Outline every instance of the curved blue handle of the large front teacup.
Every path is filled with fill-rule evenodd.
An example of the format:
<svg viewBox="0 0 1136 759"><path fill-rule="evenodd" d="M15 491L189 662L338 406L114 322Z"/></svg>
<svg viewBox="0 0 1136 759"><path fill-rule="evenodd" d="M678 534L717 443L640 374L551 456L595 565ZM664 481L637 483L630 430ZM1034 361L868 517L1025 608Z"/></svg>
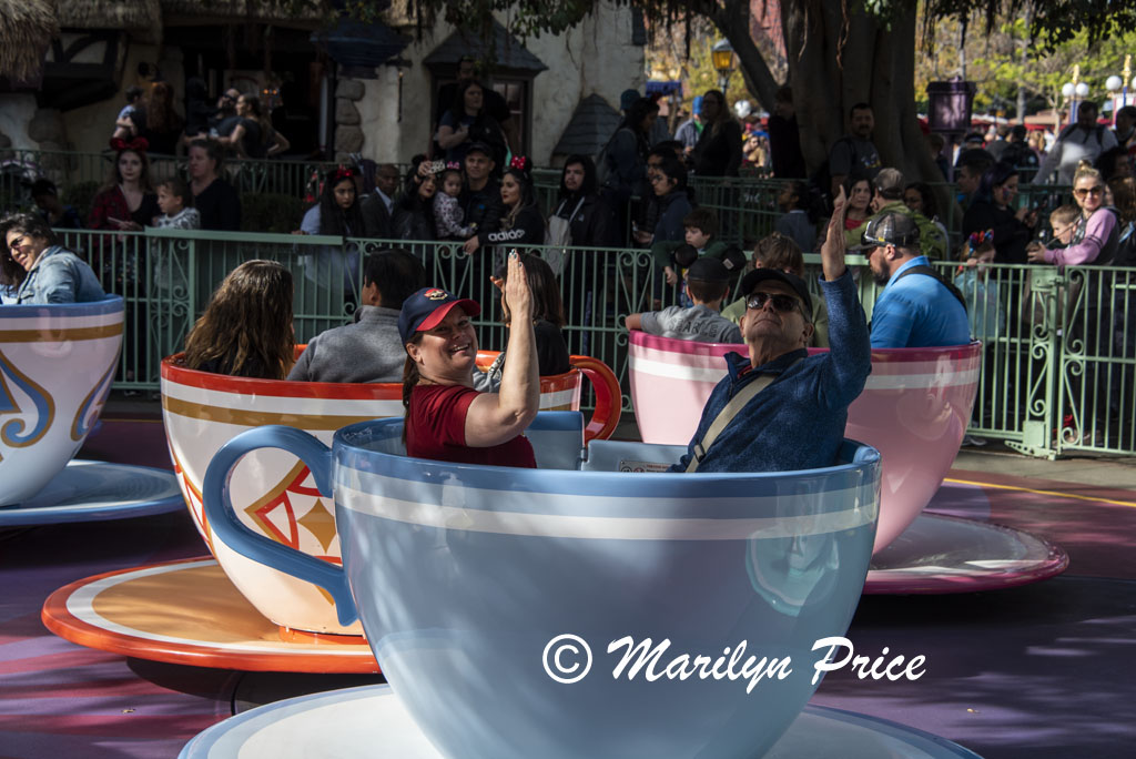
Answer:
<svg viewBox="0 0 1136 759"><path fill-rule="evenodd" d="M335 601L340 624L350 625L359 614L342 567L258 535L241 524L233 511L228 486L233 467L242 456L260 448L278 448L298 457L311 470L320 495L332 498L329 448L295 427L270 425L248 429L222 445L206 470L201 500L210 528L241 556L323 587Z"/></svg>

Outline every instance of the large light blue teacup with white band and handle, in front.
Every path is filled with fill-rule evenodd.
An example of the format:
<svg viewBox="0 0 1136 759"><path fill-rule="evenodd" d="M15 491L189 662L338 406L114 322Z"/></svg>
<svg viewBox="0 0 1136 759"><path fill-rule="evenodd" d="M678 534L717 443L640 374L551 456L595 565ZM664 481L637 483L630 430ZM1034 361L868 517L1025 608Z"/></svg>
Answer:
<svg viewBox="0 0 1136 759"><path fill-rule="evenodd" d="M860 598L879 454L846 441L825 469L650 474L682 449L584 452L573 412L533 426L538 460L565 468L408 458L400 418L344 427L331 450L260 427L214 458L206 510L235 550L327 590L341 624L358 609L449 757L762 756L816 690L815 643L844 635ZM334 492L342 568L234 517L229 473L262 447Z"/></svg>

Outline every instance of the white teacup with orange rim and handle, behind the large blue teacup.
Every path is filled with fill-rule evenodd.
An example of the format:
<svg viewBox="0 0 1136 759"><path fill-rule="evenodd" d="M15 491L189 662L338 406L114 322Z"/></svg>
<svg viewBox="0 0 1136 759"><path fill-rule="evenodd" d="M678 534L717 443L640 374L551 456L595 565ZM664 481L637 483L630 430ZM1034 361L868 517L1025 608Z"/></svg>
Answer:
<svg viewBox="0 0 1136 759"><path fill-rule="evenodd" d="M298 347L298 352L302 347ZM495 352L478 355L487 366ZM361 635L359 623L340 625L325 591L233 551L210 528L201 502L206 468L222 445L264 425L303 429L325 444L332 433L357 422L402 416L402 385L341 384L231 377L161 364L161 404L166 440L193 523L222 569L260 614L281 626L285 640L315 634ZM541 377L543 410L579 409L584 376L592 380L596 410L585 437L605 439L619 423L619 383L602 362L575 356L576 368ZM277 543L340 564L333 503L321 497L311 473L295 456L259 450L234 468L233 506L241 522Z"/></svg>

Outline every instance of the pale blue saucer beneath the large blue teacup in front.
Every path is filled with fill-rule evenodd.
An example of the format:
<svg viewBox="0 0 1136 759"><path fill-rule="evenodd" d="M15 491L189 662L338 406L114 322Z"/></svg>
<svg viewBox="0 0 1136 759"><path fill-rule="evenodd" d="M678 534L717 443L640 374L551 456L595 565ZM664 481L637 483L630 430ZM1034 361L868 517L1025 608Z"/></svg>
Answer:
<svg viewBox="0 0 1136 759"><path fill-rule="evenodd" d="M236 757L443 759L390 685L277 701L214 725L178 759ZM766 759L980 759L957 743L893 722L805 707Z"/></svg>

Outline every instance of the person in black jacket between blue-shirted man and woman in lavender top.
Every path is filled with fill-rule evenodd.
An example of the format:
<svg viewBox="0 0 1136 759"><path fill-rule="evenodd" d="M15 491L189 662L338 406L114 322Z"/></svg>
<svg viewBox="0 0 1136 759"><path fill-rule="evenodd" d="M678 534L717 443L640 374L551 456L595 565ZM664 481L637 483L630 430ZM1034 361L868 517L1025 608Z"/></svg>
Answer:
<svg viewBox="0 0 1136 759"><path fill-rule="evenodd" d="M1034 236L1037 212L1028 207L1014 209L1018 195L1018 168L999 161L983 175L975 201L962 217L962 235L994 231L994 262L1027 262L1026 245Z"/></svg>

